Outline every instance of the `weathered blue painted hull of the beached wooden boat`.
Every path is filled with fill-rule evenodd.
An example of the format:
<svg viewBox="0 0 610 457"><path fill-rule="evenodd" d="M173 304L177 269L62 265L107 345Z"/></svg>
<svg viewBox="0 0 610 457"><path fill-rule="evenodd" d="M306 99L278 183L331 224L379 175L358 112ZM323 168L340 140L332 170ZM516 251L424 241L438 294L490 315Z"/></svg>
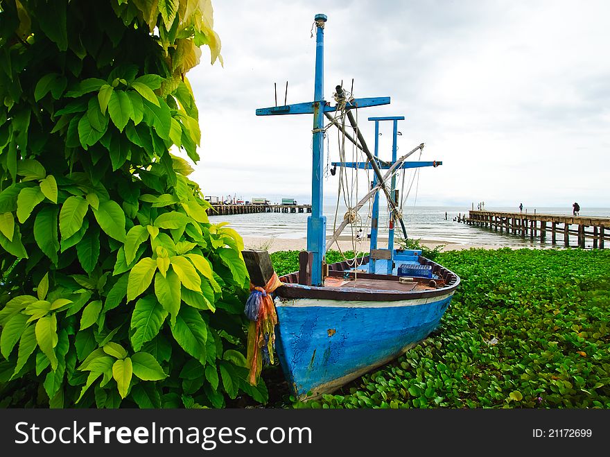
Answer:
<svg viewBox="0 0 610 457"><path fill-rule="evenodd" d="M294 393L329 393L395 359L437 327L454 291L385 302L276 298L277 354Z"/></svg>

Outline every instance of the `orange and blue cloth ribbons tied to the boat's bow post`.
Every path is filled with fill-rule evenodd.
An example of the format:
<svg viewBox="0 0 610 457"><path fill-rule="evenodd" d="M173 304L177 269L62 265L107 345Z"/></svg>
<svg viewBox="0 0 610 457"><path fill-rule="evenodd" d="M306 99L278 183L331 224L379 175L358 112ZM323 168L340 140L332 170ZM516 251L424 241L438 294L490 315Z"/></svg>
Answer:
<svg viewBox="0 0 610 457"><path fill-rule="evenodd" d="M252 386L261 374L263 361L274 363L273 349L275 348L275 325L277 314L271 293L284 284L273 273L265 287L257 287L250 283L250 297L245 302L244 313L250 319L248 327L247 363L250 366L250 379Z"/></svg>

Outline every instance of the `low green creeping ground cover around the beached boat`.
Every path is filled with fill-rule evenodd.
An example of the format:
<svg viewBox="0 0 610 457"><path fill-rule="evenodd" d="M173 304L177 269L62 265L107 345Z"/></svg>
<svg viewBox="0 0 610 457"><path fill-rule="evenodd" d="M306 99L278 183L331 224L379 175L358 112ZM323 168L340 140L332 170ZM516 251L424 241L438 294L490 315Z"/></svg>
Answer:
<svg viewBox="0 0 610 457"><path fill-rule="evenodd" d="M610 251L471 249L436 261L462 279L439 328L293 407L610 408Z"/></svg>

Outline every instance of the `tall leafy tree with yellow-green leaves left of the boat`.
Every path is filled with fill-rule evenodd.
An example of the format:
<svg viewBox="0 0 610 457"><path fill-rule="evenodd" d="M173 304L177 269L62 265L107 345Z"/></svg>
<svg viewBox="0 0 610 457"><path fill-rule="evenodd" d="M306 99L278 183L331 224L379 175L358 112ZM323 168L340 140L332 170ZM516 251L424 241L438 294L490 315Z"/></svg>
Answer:
<svg viewBox="0 0 610 457"><path fill-rule="evenodd" d="M201 45L220 59L209 0L0 1L1 405L266 401L241 237L176 155Z"/></svg>

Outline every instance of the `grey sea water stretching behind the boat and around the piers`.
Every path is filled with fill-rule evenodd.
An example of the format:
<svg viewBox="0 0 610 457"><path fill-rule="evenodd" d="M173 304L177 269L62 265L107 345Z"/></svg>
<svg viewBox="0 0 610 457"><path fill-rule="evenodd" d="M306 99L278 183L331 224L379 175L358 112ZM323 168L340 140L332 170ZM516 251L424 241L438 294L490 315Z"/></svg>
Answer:
<svg viewBox="0 0 610 457"><path fill-rule="evenodd" d="M407 236L410 239L421 239L422 241L435 241L439 244L459 243L483 246L509 246L509 247L539 247L540 240L530 239L528 233L525 239L520 235L500 234L500 231L489 230L489 227L478 227L460 223L457 219L460 216L468 215L469 207L431 207L416 206L403 208L403 221L406 226ZM518 212L518 208L508 207L485 207L487 211ZM326 216L326 236L331 236L334 227L338 227L343 216L345 207L339 207L336 211L335 205L324 205L324 215ZM536 208L539 214L563 214L570 216L571 207L540 207ZM528 209L528 214L533 214L534 209ZM525 214L525 209L523 214ZM445 218L446 215L446 218ZM307 218L310 214L306 213L255 213L255 214L232 214L227 216L210 216L211 223L228 222L241 236L266 237L279 239L300 239L307 236ZM358 213L356 224L348 225L342 236L351 236L362 230L363 236L370 233L370 209L364 207ZM582 208L580 216L602 216L610 217L610 208ZM573 226L575 228L575 226ZM380 210L379 217L379 246L382 241L387 240L388 236L387 212ZM396 239L402 236L400 224L394 230ZM551 236L547 232L546 244L550 245ZM557 232L557 245L564 243L563 231ZM586 247L590 248L593 241L586 240ZM570 235L570 245L577 244L576 236Z"/></svg>

